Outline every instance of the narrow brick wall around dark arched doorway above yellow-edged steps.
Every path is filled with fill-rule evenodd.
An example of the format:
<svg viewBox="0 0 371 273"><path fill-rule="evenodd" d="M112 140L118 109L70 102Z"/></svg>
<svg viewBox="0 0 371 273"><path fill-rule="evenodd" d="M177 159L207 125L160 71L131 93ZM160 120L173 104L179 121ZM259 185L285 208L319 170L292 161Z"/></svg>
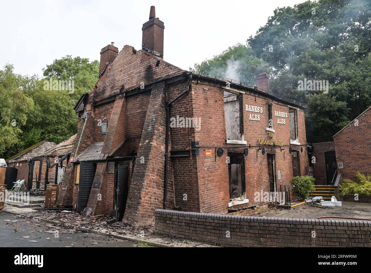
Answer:
<svg viewBox="0 0 371 273"><path fill-rule="evenodd" d="M333 141L319 142L313 143L312 146L313 156L316 157L316 163L314 164L315 183L316 185L323 185L327 183L325 152L335 151L335 143Z"/></svg>

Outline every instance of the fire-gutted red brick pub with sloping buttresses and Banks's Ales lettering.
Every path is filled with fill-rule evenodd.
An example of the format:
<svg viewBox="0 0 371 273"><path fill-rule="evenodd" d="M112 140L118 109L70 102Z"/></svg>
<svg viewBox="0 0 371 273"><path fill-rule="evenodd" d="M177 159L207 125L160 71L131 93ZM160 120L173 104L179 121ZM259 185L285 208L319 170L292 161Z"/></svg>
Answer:
<svg viewBox="0 0 371 273"><path fill-rule="evenodd" d="M252 87L169 64L163 35L151 7L141 50L102 49L57 205L150 224L157 208L262 204L257 192L308 174L302 105L269 92L265 73Z"/></svg>

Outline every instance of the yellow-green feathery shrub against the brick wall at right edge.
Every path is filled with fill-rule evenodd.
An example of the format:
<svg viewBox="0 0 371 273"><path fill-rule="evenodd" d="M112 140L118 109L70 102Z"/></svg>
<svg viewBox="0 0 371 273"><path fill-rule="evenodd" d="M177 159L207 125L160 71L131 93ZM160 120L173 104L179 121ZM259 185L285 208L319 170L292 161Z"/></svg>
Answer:
<svg viewBox="0 0 371 273"><path fill-rule="evenodd" d="M344 195L371 195L371 175L364 175L357 172L355 180L342 178L342 183L339 185L341 194Z"/></svg>

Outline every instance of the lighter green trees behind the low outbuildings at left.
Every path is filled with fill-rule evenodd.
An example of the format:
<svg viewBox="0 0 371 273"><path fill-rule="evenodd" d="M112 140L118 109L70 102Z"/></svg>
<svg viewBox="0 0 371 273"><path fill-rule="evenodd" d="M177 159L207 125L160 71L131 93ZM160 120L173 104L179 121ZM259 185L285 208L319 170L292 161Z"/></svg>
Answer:
<svg viewBox="0 0 371 273"><path fill-rule="evenodd" d="M98 81L99 62L71 56L46 65L43 79L0 70L0 157L9 158L41 140L60 143L77 132L73 110ZM45 81L73 81L74 90L45 88ZM46 90L45 90L46 89Z"/></svg>

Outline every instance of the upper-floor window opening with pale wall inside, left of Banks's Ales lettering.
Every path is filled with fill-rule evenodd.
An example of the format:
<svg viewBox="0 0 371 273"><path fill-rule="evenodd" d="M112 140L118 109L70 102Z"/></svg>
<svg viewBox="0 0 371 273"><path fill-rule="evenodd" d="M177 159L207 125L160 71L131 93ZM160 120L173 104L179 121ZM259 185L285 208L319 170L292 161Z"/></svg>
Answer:
<svg viewBox="0 0 371 273"><path fill-rule="evenodd" d="M243 140L242 94L224 91L227 140Z"/></svg>

